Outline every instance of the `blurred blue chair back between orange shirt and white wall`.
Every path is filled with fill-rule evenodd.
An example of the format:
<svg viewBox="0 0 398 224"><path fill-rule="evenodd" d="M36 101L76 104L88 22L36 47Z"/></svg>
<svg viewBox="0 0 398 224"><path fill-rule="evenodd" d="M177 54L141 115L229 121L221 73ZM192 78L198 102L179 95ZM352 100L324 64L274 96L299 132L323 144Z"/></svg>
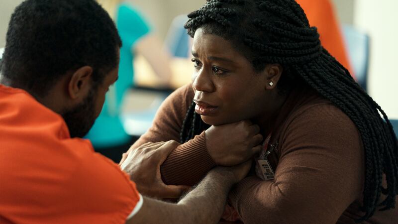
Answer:
<svg viewBox="0 0 398 224"><path fill-rule="evenodd" d="M342 30L355 77L358 84L366 91L370 38L366 33L351 25L343 25Z"/></svg>

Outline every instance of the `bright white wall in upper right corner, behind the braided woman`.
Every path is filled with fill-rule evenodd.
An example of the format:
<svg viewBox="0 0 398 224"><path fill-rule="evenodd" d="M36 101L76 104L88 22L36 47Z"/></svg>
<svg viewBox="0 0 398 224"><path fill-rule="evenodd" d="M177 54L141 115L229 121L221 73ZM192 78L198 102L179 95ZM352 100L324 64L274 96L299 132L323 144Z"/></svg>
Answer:
<svg viewBox="0 0 398 224"><path fill-rule="evenodd" d="M370 95L391 118L398 118L398 1L356 0L354 24L371 38Z"/></svg>

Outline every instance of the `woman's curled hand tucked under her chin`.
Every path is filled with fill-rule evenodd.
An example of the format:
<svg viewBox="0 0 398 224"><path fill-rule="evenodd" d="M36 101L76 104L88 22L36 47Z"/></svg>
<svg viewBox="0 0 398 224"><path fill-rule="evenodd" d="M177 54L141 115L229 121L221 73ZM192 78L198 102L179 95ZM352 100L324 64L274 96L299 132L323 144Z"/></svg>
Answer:
<svg viewBox="0 0 398 224"><path fill-rule="evenodd" d="M205 131L207 150L217 165L243 163L260 151L263 136L259 131L249 120L211 126Z"/></svg>

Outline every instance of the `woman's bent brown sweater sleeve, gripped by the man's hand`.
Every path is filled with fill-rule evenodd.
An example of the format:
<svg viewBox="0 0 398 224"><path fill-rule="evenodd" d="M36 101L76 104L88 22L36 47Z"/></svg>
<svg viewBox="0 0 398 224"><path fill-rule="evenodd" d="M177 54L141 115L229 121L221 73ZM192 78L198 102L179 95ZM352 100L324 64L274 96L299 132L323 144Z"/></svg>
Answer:
<svg viewBox="0 0 398 224"><path fill-rule="evenodd" d="M146 142L180 141L183 120L194 98L191 85L179 88L172 93L156 113L152 127L132 146ZM179 145L161 166L162 179L166 184L195 185L215 166L210 157L204 131L194 139Z"/></svg>

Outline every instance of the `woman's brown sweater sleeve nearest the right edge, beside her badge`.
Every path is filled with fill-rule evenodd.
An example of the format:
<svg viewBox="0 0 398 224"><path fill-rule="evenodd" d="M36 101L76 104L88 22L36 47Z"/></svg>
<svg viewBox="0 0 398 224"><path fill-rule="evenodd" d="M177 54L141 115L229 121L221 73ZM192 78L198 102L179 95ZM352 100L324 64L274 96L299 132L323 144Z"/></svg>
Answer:
<svg viewBox="0 0 398 224"><path fill-rule="evenodd" d="M275 179L247 177L229 198L245 224L335 224L362 193L358 130L331 105L312 107L283 128Z"/></svg>

